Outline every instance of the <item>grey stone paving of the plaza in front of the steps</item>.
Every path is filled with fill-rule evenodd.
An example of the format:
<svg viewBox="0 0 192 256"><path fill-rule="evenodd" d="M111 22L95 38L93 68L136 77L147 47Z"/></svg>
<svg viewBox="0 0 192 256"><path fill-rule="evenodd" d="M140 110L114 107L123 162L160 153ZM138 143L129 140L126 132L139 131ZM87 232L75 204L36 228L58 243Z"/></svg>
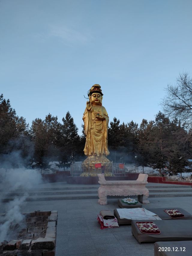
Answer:
<svg viewBox="0 0 192 256"><path fill-rule="evenodd" d="M154 183L149 183L148 185L153 184ZM58 182L41 185L41 188L57 189L61 188L62 185L70 188L82 188L86 186L69 185ZM163 184L155 185L160 186ZM88 187L91 186L95 188L95 185L88 185ZM175 193L177 194L178 192ZM149 197L150 204L143 206L146 209L154 207L181 207L192 214L191 199L191 196ZM119 207L116 198L109 198L108 205L106 206L100 205L97 201L98 199L52 200L51 198L46 201L29 201L22 207L22 212L58 210L56 256L154 255L153 243L139 244L131 234L131 225L101 230L96 220L98 213L102 209L113 210ZM3 206L5 207L6 203L4 203ZM4 207L0 209L1 213L5 212Z"/></svg>

